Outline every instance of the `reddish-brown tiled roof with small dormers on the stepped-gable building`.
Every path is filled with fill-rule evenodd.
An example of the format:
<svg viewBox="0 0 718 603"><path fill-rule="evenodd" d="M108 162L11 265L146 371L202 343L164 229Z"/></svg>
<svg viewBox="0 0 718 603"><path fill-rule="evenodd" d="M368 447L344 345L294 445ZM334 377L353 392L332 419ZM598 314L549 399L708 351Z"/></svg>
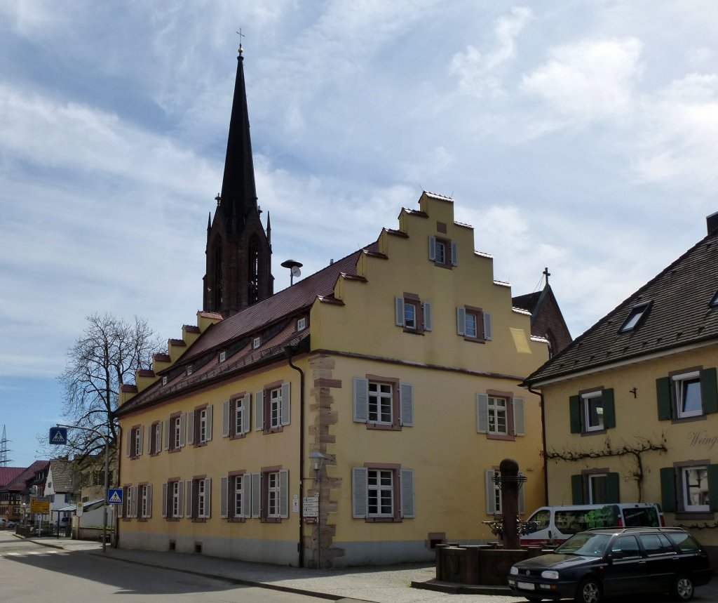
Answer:
<svg viewBox="0 0 718 603"><path fill-rule="evenodd" d="M284 356L286 346L307 343L311 325L297 333L294 317L311 307L314 300L334 300L334 287L340 275L356 277L356 264L362 253L378 255L378 243L368 245L353 254L315 272L292 287L279 291L239 313L209 326L172 367L159 372L167 377L142 390L116 411L124 415L145 405L162 401L191 387L201 387L209 379L219 379L230 372L270 362ZM261 344L253 347L253 339L259 337ZM227 359L218 363L220 351L227 352ZM192 365L192 374L186 367Z"/></svg>

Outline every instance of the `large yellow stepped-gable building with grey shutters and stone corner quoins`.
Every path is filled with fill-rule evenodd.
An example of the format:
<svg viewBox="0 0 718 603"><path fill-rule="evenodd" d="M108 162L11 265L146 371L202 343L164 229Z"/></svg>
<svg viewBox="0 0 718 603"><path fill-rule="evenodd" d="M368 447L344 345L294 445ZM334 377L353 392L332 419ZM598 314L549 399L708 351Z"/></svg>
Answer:
<svg viewBox="0 0 718 603"><path fill-rule="evenodd" d="M123 387L119 545L347 566L492 540L502 459L525 508L544 502L538 396L518 384L547 358L452 199L423 193L368 247L198 313Z"/></svg>

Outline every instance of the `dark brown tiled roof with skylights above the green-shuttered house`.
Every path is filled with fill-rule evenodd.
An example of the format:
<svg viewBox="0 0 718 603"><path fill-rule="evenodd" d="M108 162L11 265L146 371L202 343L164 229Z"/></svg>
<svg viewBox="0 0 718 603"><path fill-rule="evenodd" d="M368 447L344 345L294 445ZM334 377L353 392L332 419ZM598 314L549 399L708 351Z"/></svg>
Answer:
<svg viewBox="0 0 718 603"><path fill-rule="evenodd" d="M718 343L718 307L710 305L717 289L718 230L714 230L529 375L525 385L682 346ZM651 302L645 320L620 333L631 309L644 302Z"/></svg>

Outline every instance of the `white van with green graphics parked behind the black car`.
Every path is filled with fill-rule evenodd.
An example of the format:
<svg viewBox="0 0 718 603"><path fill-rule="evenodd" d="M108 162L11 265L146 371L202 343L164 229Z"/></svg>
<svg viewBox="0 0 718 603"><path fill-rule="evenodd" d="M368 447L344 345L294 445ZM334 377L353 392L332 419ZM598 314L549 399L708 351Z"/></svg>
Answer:
<svg viewBox="0 0 718 603"><path fill-rule="evenodd" d="M659 528L663 525L663 512L655 502L540 507L526 520L520 542L521 546L557 546L569 536L590 528Z"/></svg>

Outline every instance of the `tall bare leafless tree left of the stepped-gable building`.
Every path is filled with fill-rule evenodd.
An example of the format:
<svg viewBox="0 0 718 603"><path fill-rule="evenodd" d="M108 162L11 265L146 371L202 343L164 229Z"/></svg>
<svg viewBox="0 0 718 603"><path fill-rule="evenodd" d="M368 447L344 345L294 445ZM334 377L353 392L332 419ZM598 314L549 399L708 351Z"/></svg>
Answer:
<svg viewBox="0 0 718 603"><path fill-rule="evenodd" d="M121 385L134 383L137 369L151 367L152 354L164 346L146 321L134 323L109 314L87 317L88 326L67 351L65 372L58 377L65 388L62 416L68 425L105 433L111 451L117 443L117 409ZM77 459L103 453L105 441L90 431L68 434L67 446Z"/></svg>

